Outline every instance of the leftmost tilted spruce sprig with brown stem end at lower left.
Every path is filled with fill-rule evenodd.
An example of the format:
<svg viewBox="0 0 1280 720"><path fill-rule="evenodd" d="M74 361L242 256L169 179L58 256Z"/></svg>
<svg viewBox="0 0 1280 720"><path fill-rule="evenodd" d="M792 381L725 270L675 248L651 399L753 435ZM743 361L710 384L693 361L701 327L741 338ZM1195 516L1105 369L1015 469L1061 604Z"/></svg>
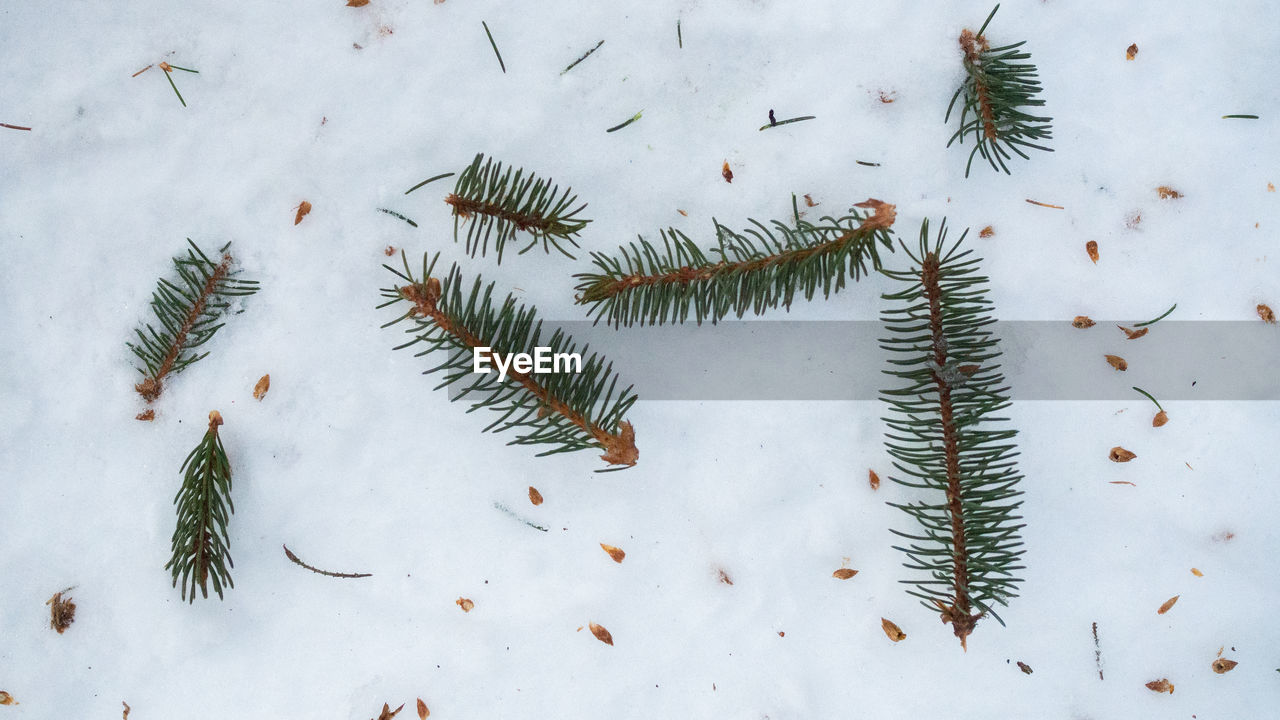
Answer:
<svg viewBox="0 0 1280 720"><path fill-rule="evenodd" d="M147 324L133 332L138 342L127 342L129 350L142 361L138 372L142 382L138 391L147 402L155 401L164 391L164 380L170 374L187 369L188 365L209 355L197 348L223 327L221 316L232 305L233 297L257 292L256 281L242 281L234 275L232 256L224 245L218 252L218 263L209 259L191 238L187 254L173 259L177 269L177 282L161 278L151 293L151 309L155 311L156 325Z"/></svg>

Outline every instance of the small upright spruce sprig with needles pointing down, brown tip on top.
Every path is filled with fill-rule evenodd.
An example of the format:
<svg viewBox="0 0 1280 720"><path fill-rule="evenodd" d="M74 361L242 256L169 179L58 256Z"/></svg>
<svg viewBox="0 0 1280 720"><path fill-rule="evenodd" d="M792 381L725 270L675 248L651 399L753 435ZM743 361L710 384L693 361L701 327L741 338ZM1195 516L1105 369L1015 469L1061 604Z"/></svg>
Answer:
<svg viewBox="0 0 1280 720"><path fill-rule="evenodd" d="M173 532L173 557L164 569L173 573L173 585L182 583L182 598L196 602L196 588L209 597L207 582L223 597L223 588L236 587L228 552L230 538L227 521L236 511L232 505L232 464L227 460L218 425L223 416L209 414L209 430L182 464L182 489L173 498L178 506L178 527Z"/></svg>

